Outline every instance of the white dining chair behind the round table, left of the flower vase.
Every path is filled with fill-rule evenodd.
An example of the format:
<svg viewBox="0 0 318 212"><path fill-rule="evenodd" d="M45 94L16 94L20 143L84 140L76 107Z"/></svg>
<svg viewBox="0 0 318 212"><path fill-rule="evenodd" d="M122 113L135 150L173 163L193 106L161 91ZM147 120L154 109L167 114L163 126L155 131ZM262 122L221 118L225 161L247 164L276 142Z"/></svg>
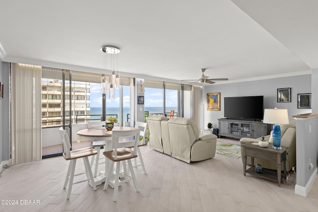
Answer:
<svg viewBox="0 0 318 212"><path fill-rule="evenodd" d="M87 128L92 129L92 128L98 128L98 127L103 127L105 125L105 122L87 122ZM98 165L99 165L99 155L100 155L100 148L102 146L105 146L106 141L90 141L89 144L97 151L96 154L96 160L95 160L95 155L91 157L90 160L90 166L94 166L94 177L97 176L97 171L98 171ZM100 163L102 164L102 163Z"/></svg>

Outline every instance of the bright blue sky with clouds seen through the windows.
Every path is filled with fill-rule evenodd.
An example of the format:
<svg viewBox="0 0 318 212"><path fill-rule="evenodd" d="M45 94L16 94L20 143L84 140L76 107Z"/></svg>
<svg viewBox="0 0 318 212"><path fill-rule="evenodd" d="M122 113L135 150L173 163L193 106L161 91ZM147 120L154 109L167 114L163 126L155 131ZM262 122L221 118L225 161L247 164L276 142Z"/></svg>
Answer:
<svg viewBox="0 0 318 212"><path fill-rule="evenodd" d="M130 96L129 86L123 86L124 102L123 107L129 107ZM162 89L159 88L145 88L145 107L161 107L162 106ZM165 91L165 106L177 107L178 94L177 90ZM115 89L115 99L109 99L109 94L106 94L107 107L119 107L119 89ZM102 107L101 87L99 83L90 84L90 107Z"/></svg>

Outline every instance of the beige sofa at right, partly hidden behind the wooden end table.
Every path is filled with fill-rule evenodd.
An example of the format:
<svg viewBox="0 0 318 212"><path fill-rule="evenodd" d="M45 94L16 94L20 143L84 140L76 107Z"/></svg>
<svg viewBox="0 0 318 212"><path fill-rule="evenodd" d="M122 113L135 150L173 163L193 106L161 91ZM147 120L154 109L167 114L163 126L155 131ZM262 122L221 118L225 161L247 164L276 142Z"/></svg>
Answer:
<svg viewBox="0 0 318 212"><path fill-rule="evenodd" d="M286 151L286 169L287 171L290 171L292 167L296 165L296 120L290 119L289 124L287 125L280 125L281 129L281 146L287 146L289 147ZM266 141L270 141L270 135L265 136L264 139ZM261 141L261 138L258 139L250 139L250 138L242 138L239 140L240 143L246 143L246 142L258 142ZM241 147L242 150L242 147ZM242 151L241 151L242 153ZM243 158L242 158L243 162ZM246 160L247 165L251 165L251 158L248 156ZM260 164L262 168L266 169L272 169L277 170L277 164L274 161L269 161L265 159L259 159L254 158L254 164ZM282 170L283 170L283 164L282 164Z"/></svg>

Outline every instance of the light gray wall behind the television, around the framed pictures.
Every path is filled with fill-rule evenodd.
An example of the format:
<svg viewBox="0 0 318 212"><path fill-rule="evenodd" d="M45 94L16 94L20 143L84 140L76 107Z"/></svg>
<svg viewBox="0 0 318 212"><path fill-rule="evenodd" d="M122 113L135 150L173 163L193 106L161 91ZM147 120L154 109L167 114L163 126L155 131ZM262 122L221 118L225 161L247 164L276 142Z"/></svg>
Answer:
<svg viewBox="0 0 318 212"><path fill-rule="evenodd" d="M291 102L277 102L277 88L291 88ZM310 113L312 109L297 108L297 94L311 93L311 74L264 79L256 81L209 85L202 87L201 107L207 104L207 93L221 92L221 111L207 111L205 109L204 124L201 129L206 129L208 122L216 128L219 126L218 119L224 118L224 97L233 96L264 96L264 108L286 108L288 115Z"/></svg>

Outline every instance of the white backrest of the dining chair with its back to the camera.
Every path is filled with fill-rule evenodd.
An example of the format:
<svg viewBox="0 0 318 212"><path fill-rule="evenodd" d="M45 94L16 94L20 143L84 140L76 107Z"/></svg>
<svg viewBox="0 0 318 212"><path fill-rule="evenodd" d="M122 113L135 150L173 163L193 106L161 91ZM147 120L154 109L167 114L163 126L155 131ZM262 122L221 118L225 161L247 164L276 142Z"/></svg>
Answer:
<svg viewBox="0 0 318 212"><path fill-rule="evenodd" d="M137 155L137 146L139 141L140 129L128 131L112 131L112 149L114 157L117 159L117 149L134 146L134 155Z"/></svg>

